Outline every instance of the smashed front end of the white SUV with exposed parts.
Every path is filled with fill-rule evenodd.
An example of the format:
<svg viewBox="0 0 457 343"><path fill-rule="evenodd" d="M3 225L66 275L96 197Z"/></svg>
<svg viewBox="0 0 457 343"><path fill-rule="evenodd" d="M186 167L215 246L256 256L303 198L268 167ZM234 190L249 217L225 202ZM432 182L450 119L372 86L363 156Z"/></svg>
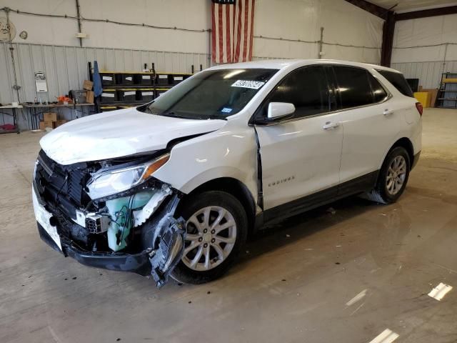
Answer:
<svg viewBox="0 0 457 343"><path fill-rule="evenodd" d="M151 177L168 159L158 151L61 165L40 151L33 198L41 238L81 264L151 275L161 287L186 234L174 216L182 194Z"/></svg>

